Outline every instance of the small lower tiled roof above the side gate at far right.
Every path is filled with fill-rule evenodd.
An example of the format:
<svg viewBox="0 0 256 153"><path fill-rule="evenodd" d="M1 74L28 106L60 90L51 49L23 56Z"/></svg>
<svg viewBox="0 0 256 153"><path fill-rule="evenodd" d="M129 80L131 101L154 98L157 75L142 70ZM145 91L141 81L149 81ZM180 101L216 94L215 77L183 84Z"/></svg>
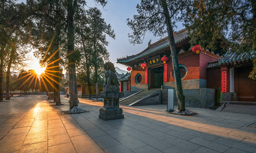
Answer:
<svg viewBox="0 0 256 153"><path fill-rule="evenodd" d="M219 60L219 64L228 64L234 62L242 62L251 60L255 56L255 50L251 50L249 53L239 54L238 52L231 53L227 52L222 59Z"/></svg>

